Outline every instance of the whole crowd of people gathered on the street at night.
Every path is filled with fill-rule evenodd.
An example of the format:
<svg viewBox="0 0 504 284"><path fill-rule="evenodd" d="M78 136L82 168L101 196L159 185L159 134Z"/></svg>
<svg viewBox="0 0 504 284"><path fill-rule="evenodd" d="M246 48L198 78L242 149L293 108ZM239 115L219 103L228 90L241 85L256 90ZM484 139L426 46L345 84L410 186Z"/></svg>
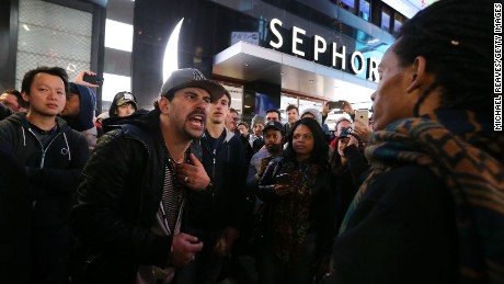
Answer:
<svg viewBox="0 0 504 284"><path fill-rule="evenodd" d="M378 67L373 121L241 121L177 69L95 118L59 67L0 95L2 283L504 283L492 2L443 0Z"/></svg>

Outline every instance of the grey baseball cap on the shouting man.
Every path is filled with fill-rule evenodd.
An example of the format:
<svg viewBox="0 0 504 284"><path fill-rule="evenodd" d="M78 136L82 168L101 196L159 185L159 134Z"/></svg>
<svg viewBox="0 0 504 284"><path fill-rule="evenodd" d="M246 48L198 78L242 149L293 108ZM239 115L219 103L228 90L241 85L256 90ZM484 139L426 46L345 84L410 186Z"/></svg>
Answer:
<svg viewBox="0 0 504 284"><path fill-rule="evenodd" d="M222 98L226 89L220 83L208 80L205 76L194 68L184 68L174 70L161 88L161 95L174 93L184 88L202 88L210 94L213 102Z"/></svg>

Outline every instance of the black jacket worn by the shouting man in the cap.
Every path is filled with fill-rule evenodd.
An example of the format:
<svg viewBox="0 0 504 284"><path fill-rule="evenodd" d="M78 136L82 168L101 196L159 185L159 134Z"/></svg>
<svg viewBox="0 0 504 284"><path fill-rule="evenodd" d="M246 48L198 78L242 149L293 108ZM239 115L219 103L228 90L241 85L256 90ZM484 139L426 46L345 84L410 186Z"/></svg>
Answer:
<svg viewBox="0 0 504 284"><path fill-rule="evenodd" d="M151 231L165 158L159 127L158 111L123 122L101 137L82 172L71 217L87 251L85 282L133 283L138 264L167 265L172 237Z"/></svg>

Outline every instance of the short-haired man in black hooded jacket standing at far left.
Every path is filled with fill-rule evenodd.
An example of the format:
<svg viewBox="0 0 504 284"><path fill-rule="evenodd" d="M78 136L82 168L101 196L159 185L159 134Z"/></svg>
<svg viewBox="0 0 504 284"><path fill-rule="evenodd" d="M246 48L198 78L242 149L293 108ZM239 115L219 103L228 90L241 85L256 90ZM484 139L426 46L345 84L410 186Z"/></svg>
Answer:
<svg viewBox="0 0 504 284"><path fill-rule="evenodd" d="M70 209L89 157L85 139L57 116L65 106L67 89L65 69L30 70L22 82L30 111L0 122L0 137L24 166L28 181L33 218L25 224L31 226L31 266L26 271L37 283L68 281L73 240Z"/></svg>

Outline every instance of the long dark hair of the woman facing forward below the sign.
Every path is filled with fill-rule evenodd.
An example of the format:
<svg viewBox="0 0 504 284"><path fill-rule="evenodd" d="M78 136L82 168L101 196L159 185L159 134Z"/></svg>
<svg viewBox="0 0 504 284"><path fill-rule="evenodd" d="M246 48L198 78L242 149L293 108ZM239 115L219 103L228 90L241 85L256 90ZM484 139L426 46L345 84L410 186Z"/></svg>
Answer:
<svg viewBox="0 0 504 284"><path fill-rule="evenodd" d="M294 139L294 132L299 125L305 125L308 128L310 128L311 134L313 134L313 150L311 151L310 155L310 160L313 163L320 164L320 166L327 166L328 164L328 158L329 158L329 146L325 143L325 135L322 130L322 127L320 127L320 124L309 117L301 118L297 121L293 128L289 132L289 135L287 136L287 148L284 151L284 155L290 159L290 160L296 160L296 152L293 149L293 139Z"/></svg>

